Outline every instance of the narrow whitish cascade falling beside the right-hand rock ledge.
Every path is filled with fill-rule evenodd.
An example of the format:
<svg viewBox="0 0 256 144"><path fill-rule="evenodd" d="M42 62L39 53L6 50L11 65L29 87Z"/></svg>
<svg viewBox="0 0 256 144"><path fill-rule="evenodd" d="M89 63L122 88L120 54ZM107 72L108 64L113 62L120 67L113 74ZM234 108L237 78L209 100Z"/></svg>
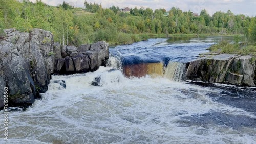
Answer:
<svg viewBox="0 0 256 144"><path fill-rule="evenodd" d="M185 76L185 70L185 63L170 61L165 69L164 77L172 81L180 81Z"/></svg>

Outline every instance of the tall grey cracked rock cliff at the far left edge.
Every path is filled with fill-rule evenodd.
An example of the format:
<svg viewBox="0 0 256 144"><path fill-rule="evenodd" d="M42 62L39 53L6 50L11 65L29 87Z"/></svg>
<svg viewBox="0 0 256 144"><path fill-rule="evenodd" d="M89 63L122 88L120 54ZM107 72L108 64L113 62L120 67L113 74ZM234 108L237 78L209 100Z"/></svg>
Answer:
<svg viewBox="0 0 256 144"><path fill-rule="evenodd" d="M53 35L41 29L4 32L6 36L0 40L0 89L8 87L9 106L31 105L39 92L47 91L53 74ZM3 107L3 95L0 99Z"/></svg>

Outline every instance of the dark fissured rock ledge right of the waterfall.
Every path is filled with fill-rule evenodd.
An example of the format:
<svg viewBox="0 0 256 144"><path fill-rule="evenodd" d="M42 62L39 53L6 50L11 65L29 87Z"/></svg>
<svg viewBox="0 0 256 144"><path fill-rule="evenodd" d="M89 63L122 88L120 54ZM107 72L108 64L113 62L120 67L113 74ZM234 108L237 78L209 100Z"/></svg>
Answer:
<svg viewBox="0 0 256 144"><path fill-rule="evenodd" d="M190 80L256 85L256 57L221 54L205 56L189 63L186 76Z"/></svg>

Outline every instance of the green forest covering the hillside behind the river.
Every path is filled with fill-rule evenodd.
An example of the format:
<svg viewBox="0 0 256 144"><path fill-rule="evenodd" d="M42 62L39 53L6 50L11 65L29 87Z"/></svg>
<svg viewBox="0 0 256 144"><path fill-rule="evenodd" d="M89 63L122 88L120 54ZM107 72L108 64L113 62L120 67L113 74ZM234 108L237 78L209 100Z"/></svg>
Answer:
<svg viewBox="0 0 256 144"><path fill-rule="evenodd" d="M238 35L245 34L248 41L256 41L256 18L243 14L217 11L212 16L207 10L200 14L183 12L172 7L152 10L131 8L121 12L118 6L102 8L100 4L84 1L85 9L74 8L63 2L49 6L41 0L0 0L0 33L16 28L49 30L54 40L65 45L80 45L105 40L111 45L131 44L152 36L169 35Z"/></svg>

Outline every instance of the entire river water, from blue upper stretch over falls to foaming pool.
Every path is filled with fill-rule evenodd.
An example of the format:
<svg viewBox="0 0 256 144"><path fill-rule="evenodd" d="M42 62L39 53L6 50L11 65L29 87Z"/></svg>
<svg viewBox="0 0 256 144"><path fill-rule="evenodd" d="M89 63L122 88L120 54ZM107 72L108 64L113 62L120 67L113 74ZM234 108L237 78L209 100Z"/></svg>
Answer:
<svg viewBox="0 0 256 144"><path fill-rule="evenodd" d="M180 62L219 39L117 46L108 67L52 76L41 100L9 113L9 139L0 143L255 143L255 88L181 80ZM124 76L123 67L145 62L148 75Z"/></svg>

